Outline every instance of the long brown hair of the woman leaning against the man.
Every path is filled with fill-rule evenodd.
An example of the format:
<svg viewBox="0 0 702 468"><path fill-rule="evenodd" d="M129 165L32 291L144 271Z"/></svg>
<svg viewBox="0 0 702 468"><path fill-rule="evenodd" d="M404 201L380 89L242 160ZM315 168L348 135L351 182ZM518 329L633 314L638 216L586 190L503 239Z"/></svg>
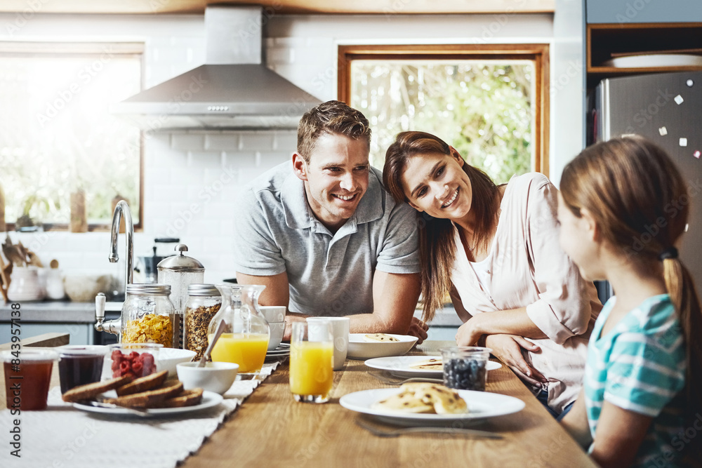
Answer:
<svg viewBox="0 0 702 468"><path fill-rule="evenodd" d="M383 183L395 201L407 201L402 189L402 174L407 161L427 154L451 156L451 147L431 133L402 132L385 153ZM489 232L496 223L498 189L486 173L463 163L463 171L472 185L472 204L477 225L473 238L476 246L484 246ZM426 213L418 213L419 259L422 269L422 295L424 297L423 320L430 322L437 311L444 307L444 297L451 288L451 268L456 258L456 243L453 241L453 225L450 220L433 218Z"/></svg>

